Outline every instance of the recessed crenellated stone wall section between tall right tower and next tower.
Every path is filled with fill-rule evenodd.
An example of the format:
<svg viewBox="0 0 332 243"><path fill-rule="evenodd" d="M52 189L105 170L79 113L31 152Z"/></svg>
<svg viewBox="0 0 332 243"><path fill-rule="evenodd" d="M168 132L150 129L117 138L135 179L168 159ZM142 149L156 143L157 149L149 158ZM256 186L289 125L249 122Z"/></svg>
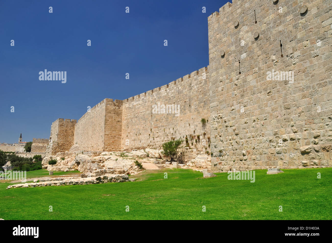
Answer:
<svg viewBox="0 0 332 243"><path fill-rule="evenodd" d="M159 149L172 138L185 141L187 136L190 147L208 150L208 77L205 67L123 100L122 149ZM207 121L204 125L202 118Z"/></svg>

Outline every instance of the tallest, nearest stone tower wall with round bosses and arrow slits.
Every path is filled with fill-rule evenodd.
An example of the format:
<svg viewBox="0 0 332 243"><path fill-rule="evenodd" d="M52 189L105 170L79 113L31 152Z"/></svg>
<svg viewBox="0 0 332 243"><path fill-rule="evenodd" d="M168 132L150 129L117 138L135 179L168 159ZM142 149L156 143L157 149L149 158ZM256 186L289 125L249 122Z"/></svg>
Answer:
<svg viewBox="0 0 332 243"><path fill-rule="evenodd" d="M243 0L208 18L212 171L332 166L331 13Z"/></svg>

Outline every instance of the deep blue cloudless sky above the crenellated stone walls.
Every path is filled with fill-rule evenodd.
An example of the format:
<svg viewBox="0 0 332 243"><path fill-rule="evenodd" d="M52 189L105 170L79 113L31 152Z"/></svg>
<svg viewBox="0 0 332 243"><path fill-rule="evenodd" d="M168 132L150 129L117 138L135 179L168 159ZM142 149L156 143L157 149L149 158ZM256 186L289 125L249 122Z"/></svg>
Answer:
<svg viewBox="0 0 332 243"><path fill-rule="evenodd" d="M207 66L207 17L226 2L1 0L0 142L21 132L27 142L49 138L57 118L79 119L104 98L123 100ZM40 81L44 69L66 71L67 82Z"/></svg>

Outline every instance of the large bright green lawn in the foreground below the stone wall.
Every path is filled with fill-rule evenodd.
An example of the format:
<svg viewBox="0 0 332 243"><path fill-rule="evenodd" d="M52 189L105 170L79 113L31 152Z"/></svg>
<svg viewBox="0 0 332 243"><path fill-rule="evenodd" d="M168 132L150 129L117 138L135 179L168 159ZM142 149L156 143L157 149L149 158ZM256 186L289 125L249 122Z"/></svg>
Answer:
<svg viewBox="0 0 332 243"><path fill-rule="evenodd" d="M227 173L203 179L190 169L143 172L123 183L9 190L12 183L0 183L0 218L332 219L332 168L284 171L256 170L255 183L228 180Z"/></svg>

